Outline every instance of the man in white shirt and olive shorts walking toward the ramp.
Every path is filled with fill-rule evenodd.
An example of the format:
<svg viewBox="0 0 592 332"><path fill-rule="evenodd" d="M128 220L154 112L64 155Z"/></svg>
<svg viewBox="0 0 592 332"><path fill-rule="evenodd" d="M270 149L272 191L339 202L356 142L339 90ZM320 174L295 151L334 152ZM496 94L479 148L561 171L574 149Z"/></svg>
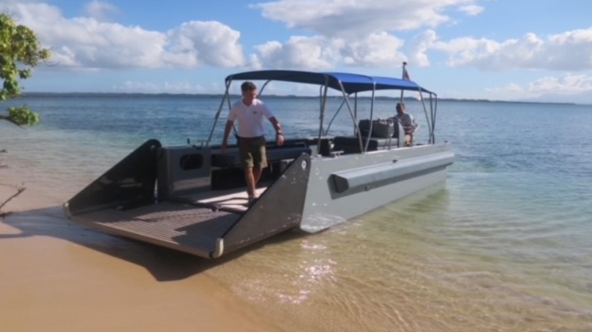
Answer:
<svg viewBox="0 0 592 332"><path fill-rule="evenodd" d="M263 129L263 117L267 118L275 129L275 141L281 146L284 144L284 134L278 120L269 108L257 99L257 87L253 82L244 82L240 89L243 99L234 103L224 128L224 138L220 152L224 153L228 145L228 136L234 125L234 120L239 120L239 153L240 163L244 169L244 179L247 182L247 194L249 205L255 201L255 186L259 181L262 170L267 167L265 152L265 130Z"/></svg>

